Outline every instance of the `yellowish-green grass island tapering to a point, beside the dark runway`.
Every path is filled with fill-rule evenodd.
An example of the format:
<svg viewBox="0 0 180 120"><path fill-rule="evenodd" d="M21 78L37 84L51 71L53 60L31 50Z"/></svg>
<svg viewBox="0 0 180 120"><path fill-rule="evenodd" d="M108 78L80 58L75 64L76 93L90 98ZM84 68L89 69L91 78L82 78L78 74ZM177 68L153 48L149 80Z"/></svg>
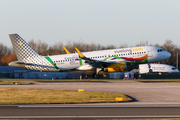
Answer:
<svg viewBox="0 0 180 120"><path fill-rule="evenodd" d="M0 104L69 104L69 103L111 103L116 97L123 102L132 99L118 93L78 92L70 90L0 88Z"/></svg>

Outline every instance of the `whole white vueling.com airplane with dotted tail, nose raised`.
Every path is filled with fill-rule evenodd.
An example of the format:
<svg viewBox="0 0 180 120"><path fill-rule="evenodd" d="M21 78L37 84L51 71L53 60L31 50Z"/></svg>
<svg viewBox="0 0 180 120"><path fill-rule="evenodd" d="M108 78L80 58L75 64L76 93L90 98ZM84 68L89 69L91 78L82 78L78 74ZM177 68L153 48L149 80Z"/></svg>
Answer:
<svg viewBox="0 0 180 120"><path fill-rule="evenodd" d="M93 78L104 72L122 72L127 65L159 62L171 54L156 46L140 46L90 52L42 56L18 34L9 34L18 61L9 66L49 72L93 70ZM149 66L150 68L150 66ZM151 72L151 69L149 70Z"/></svg>

